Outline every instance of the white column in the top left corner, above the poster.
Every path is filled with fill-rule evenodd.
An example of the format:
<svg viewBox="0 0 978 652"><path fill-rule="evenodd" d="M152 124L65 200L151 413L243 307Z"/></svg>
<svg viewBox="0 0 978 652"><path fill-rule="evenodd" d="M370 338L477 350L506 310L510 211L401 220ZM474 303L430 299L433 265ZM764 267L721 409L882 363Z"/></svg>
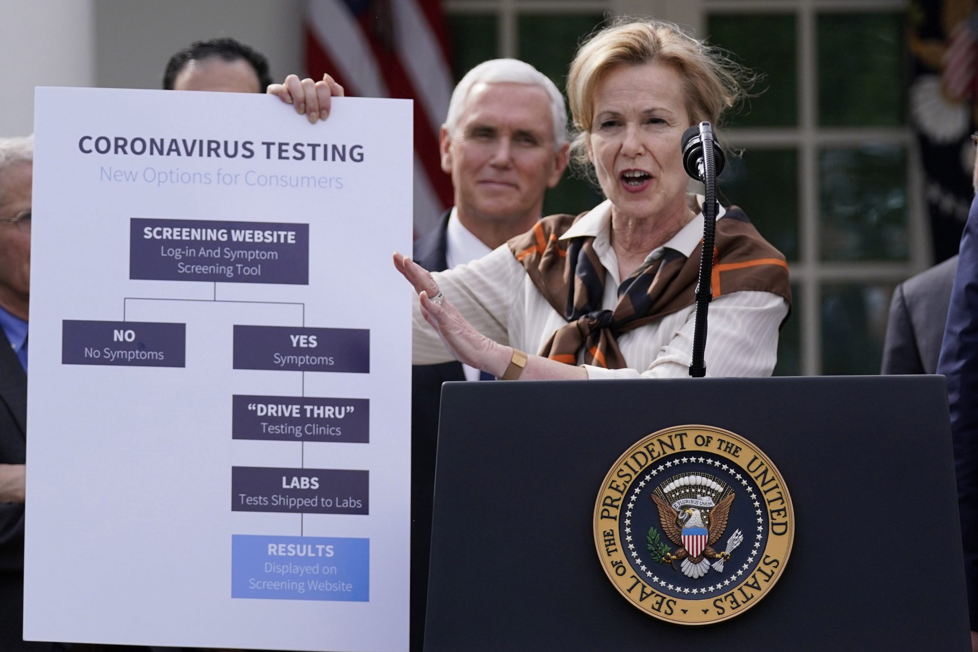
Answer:
<svg viewBox="0 0 978 652"><path fill-rule="evenodd" d="M0 136L34 130L35 86L95 83L94 0L0 0Z"/></svg>

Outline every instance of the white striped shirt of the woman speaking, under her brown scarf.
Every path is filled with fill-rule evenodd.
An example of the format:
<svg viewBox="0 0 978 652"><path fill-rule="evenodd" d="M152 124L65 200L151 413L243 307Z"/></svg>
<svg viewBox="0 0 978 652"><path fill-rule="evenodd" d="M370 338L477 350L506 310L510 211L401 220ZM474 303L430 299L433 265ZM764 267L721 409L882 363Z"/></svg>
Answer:
<svg viewBox="0 0 978 652"><path fill-rule="evenodd" d="M700 202L702 199L700 199ZM721 208L718 219L726 211ZM601 308L614 310L618 302L618 259L610 242L611 203L604 201L578 220L561 239L594 236L594 249L605 269ZM700 212L672 239L649 256L666 248L689 257L703 233ZM449 271L434 273L445 297L481 333L497 342L537 353L557 328L567 324L530 281L506 244L488 255ZM710 303L706 340L706 373L710 376L771 375L778 360L778 326L787 315L787 302L771 292L740 291ZM618 335L618 346L629 369L601 369L582 365L590 378L663 378L689 376L695 306L667 315ZM414 364L450 362L451 354L435 330L414 308ZM578 362L583 362L583 352Z"/></svg>

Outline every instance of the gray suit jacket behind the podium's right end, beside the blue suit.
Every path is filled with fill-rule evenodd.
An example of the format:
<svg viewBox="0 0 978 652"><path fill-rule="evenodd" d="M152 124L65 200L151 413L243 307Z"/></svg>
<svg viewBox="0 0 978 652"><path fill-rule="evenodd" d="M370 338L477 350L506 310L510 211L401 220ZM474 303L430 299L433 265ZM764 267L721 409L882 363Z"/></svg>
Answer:
<svg viewBox="0 0 978 652"><path fill-rule="evenodd" d="M936 373L957 256L897 285L883 344L882 373Z"/></svg>

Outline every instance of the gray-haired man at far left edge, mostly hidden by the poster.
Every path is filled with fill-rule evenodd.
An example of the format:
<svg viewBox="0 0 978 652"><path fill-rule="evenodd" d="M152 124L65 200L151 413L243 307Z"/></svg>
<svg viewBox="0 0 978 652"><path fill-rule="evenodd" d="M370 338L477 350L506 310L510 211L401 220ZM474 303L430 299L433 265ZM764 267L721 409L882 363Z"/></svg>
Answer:
<svg viewBox="0 0 978 652"><path fill-rule="evenodd" d="M27 305L34 139L0 138L0 649L51 650L23 630Z"/></svg>

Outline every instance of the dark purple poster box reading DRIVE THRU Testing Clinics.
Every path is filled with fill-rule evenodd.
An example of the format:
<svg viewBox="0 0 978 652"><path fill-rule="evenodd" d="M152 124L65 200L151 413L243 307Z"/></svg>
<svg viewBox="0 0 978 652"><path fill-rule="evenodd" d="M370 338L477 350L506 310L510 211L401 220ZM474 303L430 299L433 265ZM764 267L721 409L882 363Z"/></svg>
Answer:
<svg viewBox="0 0 978 652"><path fill-rule="evenodd" d="M370 442L370 400L235 395L231 436L366 444Z"/></svg>

